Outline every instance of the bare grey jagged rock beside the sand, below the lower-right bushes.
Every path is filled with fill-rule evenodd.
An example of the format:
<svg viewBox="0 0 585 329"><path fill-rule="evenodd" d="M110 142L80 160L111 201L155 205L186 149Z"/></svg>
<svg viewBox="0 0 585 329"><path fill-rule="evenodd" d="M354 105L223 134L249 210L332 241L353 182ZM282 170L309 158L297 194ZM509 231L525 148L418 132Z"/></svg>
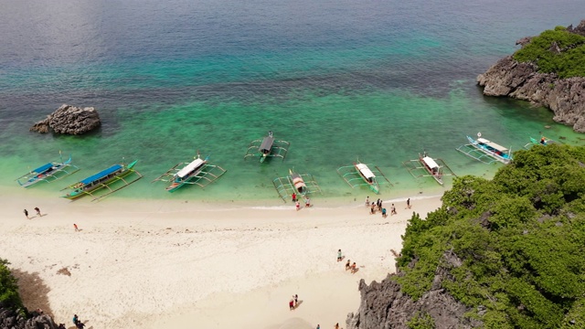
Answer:
<svg viewBox="0 0 585 329"><path fill-rule="evenodd" d="M480 327L480 321L464 316L472 310L441 288L441 281L450 278L449 268L461 266L461 260L451 253L445 253L442 260L442 265L435 271L431 290L417 301L400 291L399 283L394 280L400 274L390 274L383 281L373 281L370 285L360 281L362 302L357 313L347 315L347 329L408 328L409 321L420 314L430 315L436 328ZM481 315L482 311L478 310L478 314Z"/></svg>

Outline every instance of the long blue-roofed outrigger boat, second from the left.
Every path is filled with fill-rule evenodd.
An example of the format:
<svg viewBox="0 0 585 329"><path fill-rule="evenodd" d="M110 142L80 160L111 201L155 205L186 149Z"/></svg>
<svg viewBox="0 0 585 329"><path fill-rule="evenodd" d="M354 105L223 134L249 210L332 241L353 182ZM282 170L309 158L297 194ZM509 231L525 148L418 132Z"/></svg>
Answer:
<svg viewBox="0 0 585 329"><path fill-rule="evenodd" d="M78 183L65 187L64 189L72 188L73 191L61 197L72 200L80 196L90 195L93 196L93 200L95 201L103 196L108 196L123 187L133 184L143 177L143 175L134 170L134 165L137 162L138 160L133 161L131 164L113 164L111 167L102 170L98 174L90 175ZM129 179L130 175L132 175L131 179ZM123 185L112 188L112 185L117 182L122 182ZM94 193L102 188L108 189L108 192L101 196L94 196Z"/></svg>

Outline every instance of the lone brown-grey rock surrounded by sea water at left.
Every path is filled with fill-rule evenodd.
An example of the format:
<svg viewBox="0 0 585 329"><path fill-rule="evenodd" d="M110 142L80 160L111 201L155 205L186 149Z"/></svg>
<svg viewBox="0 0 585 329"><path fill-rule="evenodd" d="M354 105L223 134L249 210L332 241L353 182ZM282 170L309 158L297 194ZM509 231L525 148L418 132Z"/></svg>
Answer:
<svg viewBox="0 0 585 329"><path fill-rule="evenodd" d="M45 120L35 123L30 131L48 133L50 128L55 133L82 134L90 132L100 124L100 115L94 108L79 108L63 104Z"/></svg>

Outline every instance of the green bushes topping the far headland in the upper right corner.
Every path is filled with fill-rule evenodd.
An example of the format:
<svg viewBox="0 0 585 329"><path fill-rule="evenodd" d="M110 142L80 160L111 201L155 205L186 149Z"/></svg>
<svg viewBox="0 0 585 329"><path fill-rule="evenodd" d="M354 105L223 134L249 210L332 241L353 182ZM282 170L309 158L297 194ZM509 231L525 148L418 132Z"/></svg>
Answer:
<svg viewBox="0 0 585 329"><path fill-rule="evenodd" d="M561 79L585 77L585 37L565 27L546 30L517 50L514 59L534 63L539 72L557 73Z"/></svg>

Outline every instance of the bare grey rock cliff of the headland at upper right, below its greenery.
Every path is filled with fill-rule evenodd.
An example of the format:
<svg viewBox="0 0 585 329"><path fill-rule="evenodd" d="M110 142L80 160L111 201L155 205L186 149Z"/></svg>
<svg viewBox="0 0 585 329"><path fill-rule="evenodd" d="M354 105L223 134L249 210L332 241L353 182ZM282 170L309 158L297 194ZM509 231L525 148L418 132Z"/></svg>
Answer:
<svg viewBox="0 0 585 329"><path fill-rule="evenodd" d="M585 20L578 27L567 27L572 33L585 36ZM530 38L516 41L526 45ZM562 51L553 42L549 51ZM554 73L538 73L534 63L519 63L512 56L500 59L477 82L484 87L484 95L507 96L548 107L555 113L553 120L585 133L585 78L559 79Z"/></svg>

